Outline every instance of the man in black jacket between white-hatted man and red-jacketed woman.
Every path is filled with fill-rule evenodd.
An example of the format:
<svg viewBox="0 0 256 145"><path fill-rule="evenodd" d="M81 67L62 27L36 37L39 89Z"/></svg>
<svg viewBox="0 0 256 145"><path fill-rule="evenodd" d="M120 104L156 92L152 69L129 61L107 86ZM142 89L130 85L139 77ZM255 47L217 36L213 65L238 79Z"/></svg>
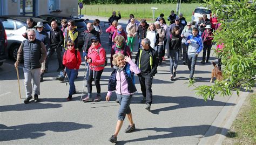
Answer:
<svg viewBox="0 0 256 145"><path fill-rule="evenodd" d="M62 30L59 29L56 20L52 20L51 27L52 27L52 30L50 33L50 48L48 49L47 57L45 61L45 72L48 71L49 59L54 52L57 53L57 58L59 63L57 72L59 72L60 70L63 69L61 51L62 51L62 45L64 43L64 36L63 36Z"/></svg>

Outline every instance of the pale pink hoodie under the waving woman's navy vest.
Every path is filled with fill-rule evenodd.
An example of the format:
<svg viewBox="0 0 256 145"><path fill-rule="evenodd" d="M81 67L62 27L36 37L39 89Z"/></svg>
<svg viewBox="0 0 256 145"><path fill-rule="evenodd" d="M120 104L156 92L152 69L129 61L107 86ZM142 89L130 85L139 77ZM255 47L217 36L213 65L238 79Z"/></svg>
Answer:
<svg viewBox="0 0 256 145"><path fill-rule="evenodd" d="M134 64L132 60L129 61L129 64L130 64L130 70L132 72L134 72L135 74L140 73L139 67L136 64ZM116 79L117 79L117 86L116 86L117 94L121 94L122 92L122 95L131 95L134 93L134 92L129 93L128 91L128 84L125 78L124 71L121 71L120 73L117 71ZM108 96L111 96L111 94L112 94L112 91L107 92Z"/></svg>

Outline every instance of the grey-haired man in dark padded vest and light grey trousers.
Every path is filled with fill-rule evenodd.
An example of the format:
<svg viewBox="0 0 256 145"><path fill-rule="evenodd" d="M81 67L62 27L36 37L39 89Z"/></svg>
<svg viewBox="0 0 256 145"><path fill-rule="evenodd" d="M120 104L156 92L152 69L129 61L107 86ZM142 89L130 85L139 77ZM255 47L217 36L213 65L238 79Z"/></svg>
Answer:
<svg viewBox="0 0 256 145"><path fill-rule="evenodd" d="M14 64L16 69L24 59L24 84L26 91L26 99L24 103L29 103L32 99L32 91L34 93L34 101L38 102L38 95L40 95L40 74L41 74L41 64L46 58L46 49L43 42L36 39L36 32L34 29L28 29L28 39L24 40L19 46L17 61ZM31 84L31 79L33 79L33 87ZM33 90L32 90L33 89Z"/></svg>

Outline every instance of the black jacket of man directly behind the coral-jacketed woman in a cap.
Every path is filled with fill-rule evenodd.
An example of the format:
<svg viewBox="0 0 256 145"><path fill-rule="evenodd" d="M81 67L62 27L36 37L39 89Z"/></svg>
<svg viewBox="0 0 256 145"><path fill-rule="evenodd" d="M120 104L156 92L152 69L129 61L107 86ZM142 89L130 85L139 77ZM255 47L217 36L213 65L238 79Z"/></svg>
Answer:
<svg viewBox="0 0 256 145"><path fill-rule="evenodd" d="M91 38L94 36L96 36L99 39L99 43L101 44L98 31L96 31L95 29L92 29L91 32L87 30L84 31L84 38L83 38L84 39L84 46L83 46L84 57L87 56L88 50L92 45Z"/></svg>

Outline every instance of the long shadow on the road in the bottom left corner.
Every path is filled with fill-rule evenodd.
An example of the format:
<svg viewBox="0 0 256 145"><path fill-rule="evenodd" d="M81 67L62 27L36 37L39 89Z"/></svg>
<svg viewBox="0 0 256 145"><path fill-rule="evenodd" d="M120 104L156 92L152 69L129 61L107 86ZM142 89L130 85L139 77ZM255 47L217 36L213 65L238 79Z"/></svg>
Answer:
<svg viewBox="0 0 256 145"><path fill-rule="evenodd" d="M69 132L72 130L88 129L91 127L91 125L82 125L75 122L31 123L10 127L0 124L0 141L37 139L38 137L45 135L45 133L42 132Z"/></svg>

